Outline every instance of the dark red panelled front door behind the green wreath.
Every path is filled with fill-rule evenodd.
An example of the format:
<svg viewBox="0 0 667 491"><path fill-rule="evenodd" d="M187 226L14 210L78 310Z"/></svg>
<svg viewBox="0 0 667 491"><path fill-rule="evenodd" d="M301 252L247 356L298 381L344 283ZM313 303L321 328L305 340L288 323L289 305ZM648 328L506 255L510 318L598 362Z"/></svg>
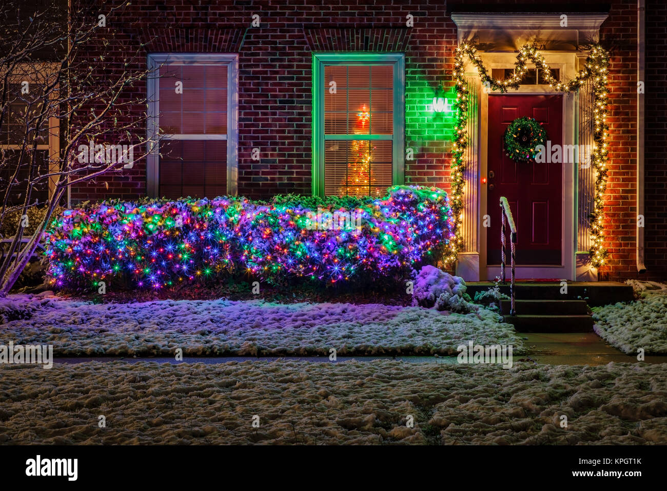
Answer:
<svg viewBox="0 0 667 491"><path fill-rule="evenodd" d="M521 116L544 124L551 145L563 143L562 96L489 96L487 264L500 264L500 196L517 228L516 265L562 264L562 172L559 163L515 162L503 150L505 130ZM510 234L507 229L509 260Z"/></svg>

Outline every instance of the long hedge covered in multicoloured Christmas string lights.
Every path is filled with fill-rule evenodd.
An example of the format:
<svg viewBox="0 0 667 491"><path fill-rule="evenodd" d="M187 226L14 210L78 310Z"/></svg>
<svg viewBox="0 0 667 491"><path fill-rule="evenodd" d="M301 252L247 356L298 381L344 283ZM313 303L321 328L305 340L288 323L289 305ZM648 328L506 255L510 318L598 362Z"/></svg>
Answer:
<svg viewBox="0 0 667 491"><path fill-rule="evenodd" d="M317 201L303 197L310 206ZM320 283L403 275L432 262L452 238L446 192L394 186L380 198L270 203L245 198L111 202L65 210L47 231L55 287L99 281L161 289L181 282L248 274Z"/></svg>

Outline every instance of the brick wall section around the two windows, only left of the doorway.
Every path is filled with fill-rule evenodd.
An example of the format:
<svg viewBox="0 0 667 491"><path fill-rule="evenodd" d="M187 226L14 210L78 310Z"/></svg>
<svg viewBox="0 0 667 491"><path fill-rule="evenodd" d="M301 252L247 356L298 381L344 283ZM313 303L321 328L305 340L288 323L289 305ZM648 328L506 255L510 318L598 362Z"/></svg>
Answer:
<svg viewBox="0 0 667 491"><path fill-rule="evenodd" d="M192 4L133 1L120 19L109 18L107 26L118 29L128 43L147 43L147 52L239 53L239 194L267 198L279 192L311 192L313 49L406 53L406 146L414 151L414 160L406 162L406 182L448 188L451 135L446 135L453 124L425 114L438 84L452 86L456 26L442 2ZM249 27L253 14L260 16L258 28ZM410 29L408 14L414 16ZM392 36L396 39L388 40ZM260 150L259 161L251 159L253 148ZM132 198L144 192L145 162L139 161L131 170L73 188L71 198Z"/></svg>

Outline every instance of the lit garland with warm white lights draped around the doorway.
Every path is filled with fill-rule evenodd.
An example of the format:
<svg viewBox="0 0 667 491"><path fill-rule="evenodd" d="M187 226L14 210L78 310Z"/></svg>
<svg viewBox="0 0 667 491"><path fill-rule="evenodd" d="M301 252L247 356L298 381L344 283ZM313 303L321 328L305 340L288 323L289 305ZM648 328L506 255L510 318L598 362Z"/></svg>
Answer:
<svg viewBox="0 0 667 491"><path fill-rule="evenodd" d="M543 73L547 84L557 92L572 92L577 90L587 80L592 81L594 95L594 149L592 152L592 164L595 170L595 195L593 210L589 216L592 245L590 247L591 263L594 267L604 265L607 251L604 249L604 194L607 188L607 154L609 127L606 123L608 106L607 76L609 69L609 54L599 44L590 47L590 55L586 58L584 68L567 82L557 80L551 72L544 57L538 52L534 44L521 47L514 63L514 73L505 80L495 80L484 67L482 58L477 54L473 45L463 44L456 48L454 55L454 79L456 80L456 124L454 126L454 143L452 145L452 220L454 222L454 239L450 242L448 262L456 261L458 251L463 244L461 224L463 219L463 190L465 186L464 170L466 159L466 121L468 115L468 104L470 96L468 85L464 78L464 61L470 59L477 68L482 84L491 90L508 92L510 89L518 89L521 81L528 70L528 61Z"/></svg>

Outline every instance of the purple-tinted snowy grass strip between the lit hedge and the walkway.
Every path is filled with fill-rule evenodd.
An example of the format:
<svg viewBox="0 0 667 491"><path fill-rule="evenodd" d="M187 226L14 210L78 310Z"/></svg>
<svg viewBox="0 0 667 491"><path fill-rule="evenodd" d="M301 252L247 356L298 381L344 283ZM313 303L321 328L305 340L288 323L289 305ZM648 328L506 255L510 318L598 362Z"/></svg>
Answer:
<svg viewBox="0 0 667 491"><path fill-rule="evenodd" d="M440 355L456 347L523 342L498 314L422 307L265 301L93 304L50 293L0 301L0 344L51 344L56 356Z"/></svg>

